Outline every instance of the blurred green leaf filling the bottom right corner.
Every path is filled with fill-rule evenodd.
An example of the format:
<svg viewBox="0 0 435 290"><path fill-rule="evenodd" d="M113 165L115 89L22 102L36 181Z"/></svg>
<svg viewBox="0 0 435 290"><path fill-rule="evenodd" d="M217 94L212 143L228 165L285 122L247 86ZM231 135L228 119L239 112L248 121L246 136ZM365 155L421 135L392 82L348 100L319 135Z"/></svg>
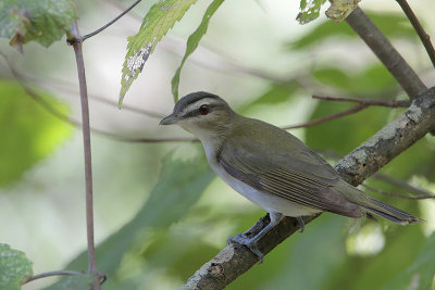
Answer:
<svg viewBox="0 0 435 290"><path fill-rule="evenodd" d="M435 234L427 239L411 266L385 285L383 290L435 289Z"/></svg>

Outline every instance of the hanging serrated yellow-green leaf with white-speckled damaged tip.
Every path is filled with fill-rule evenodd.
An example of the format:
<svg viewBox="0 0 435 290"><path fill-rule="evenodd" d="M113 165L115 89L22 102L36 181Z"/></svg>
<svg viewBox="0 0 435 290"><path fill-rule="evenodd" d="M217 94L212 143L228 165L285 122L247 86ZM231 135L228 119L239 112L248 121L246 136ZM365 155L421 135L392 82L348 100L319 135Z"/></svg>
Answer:
<svg viewBox="0 0 435 290"><path fill-rule="evenodd" d="M163 0L148 11L139 31L128 37L127 54L122 70L120 106L133 81L142 71L145 62L157 43L179 21L197 0Z"/></svg>

